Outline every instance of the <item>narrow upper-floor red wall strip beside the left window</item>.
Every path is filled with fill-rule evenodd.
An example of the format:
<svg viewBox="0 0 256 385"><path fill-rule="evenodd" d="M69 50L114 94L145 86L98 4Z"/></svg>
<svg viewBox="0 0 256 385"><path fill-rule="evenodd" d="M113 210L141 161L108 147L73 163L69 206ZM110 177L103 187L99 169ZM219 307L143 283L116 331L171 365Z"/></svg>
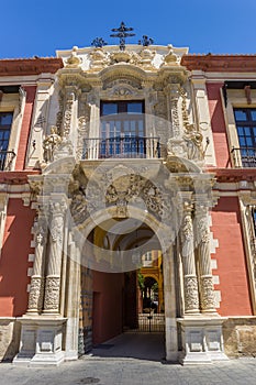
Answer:
<svg viewBox="0 0 256 385"><path fill-rule="evenodd" d="M35 99L36 87L35 86L24 86L26 91L25 109L22 119L21 135L16 154L15 169L23 169L25 164L26 147L30 138L30 128L33 113L33 106Z"/></svg>

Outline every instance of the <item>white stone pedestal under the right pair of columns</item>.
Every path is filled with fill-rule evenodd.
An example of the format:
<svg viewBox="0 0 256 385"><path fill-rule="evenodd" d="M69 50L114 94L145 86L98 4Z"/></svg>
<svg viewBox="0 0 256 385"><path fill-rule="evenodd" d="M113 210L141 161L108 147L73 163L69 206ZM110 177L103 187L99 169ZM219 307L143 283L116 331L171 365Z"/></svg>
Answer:
<svg viewBox="0 0 256 385"><path fill-rule="evenodd" d="M181 326L181 364L205 364L229 360L224 353L221 317L188 317Z"/></svg>

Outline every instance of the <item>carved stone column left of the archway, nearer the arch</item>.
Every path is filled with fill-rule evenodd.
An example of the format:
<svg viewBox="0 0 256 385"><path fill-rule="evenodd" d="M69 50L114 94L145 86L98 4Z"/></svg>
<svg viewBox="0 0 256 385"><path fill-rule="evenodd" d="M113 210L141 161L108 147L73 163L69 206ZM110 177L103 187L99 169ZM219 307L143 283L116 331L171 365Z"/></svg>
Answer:
<svg viewBox="0 0 256 385"><path fill-rule="evenodd" d="M63 258L64 218L66 201L51 201L48 265L45 283L44 314L59 312L60 274Z"/></svg>

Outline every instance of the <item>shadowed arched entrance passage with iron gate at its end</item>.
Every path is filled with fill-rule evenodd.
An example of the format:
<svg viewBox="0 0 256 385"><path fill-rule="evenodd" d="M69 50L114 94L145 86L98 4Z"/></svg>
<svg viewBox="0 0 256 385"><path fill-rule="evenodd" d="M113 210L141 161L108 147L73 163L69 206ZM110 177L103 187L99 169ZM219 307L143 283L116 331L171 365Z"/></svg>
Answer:
<svg viewBox="0 0 256 385"><path fill-rule="evenodd" d="M98 220L87 235L82 258L90 254L92 268L82 267L81 275L85 351L123 332L159 333L164 344L164 257L159 239L147 222L148 218L141 221L131 217ZM166 282L169 278L168 274ZM159 360L164 350L162 346Z"/></svg>

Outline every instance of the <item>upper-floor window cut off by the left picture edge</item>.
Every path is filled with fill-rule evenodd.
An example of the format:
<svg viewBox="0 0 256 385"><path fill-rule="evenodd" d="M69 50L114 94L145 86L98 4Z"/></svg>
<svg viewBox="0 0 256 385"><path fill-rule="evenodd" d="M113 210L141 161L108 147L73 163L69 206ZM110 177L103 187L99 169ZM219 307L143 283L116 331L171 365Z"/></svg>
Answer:
<svg viewBox="0 0 256 385"><path fill-rule="evenodd" d="M12 162L12 152L9 153L12 112L0 112L0 170L9 169Z"/></svg>

